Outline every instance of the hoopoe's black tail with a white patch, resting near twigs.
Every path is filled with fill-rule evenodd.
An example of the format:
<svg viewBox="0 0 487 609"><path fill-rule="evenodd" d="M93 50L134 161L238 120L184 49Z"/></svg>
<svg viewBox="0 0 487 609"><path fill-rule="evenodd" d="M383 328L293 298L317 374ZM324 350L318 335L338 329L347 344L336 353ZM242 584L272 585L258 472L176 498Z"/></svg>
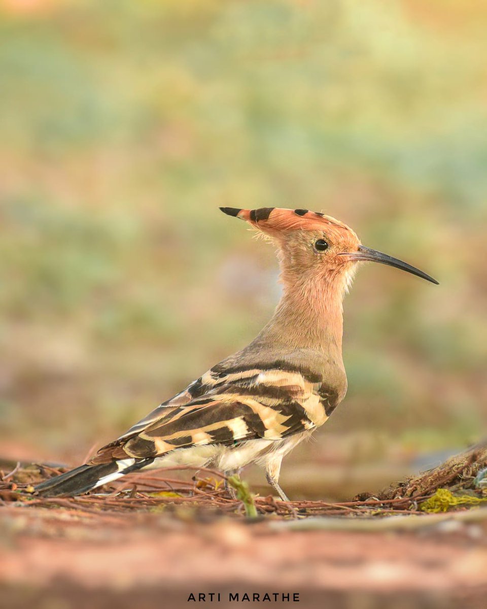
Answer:
<svg viewBox="0 0 487 609"><path fill-rule="evenodd" d="M83 495L92 488L107 484L131 471L140 470L151 462L152 459L119 459L100 465L80 465L65 474L41 482L34 491L42 497Z"/></svg>

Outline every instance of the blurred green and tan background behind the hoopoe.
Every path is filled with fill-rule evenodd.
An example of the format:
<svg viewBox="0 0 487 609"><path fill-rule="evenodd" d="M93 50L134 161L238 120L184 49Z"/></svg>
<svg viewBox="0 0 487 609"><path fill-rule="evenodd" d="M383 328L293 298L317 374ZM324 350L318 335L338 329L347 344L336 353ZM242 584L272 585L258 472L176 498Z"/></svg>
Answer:
<svg viewBox="0 0 487 609"><path fill-rule="evenodd" d="M359 272L348 396L283 481L480 438L485 6L0 7L2 456L77 463L253 338L275 256L220 205L324 211L441 283Z"/></svg>

